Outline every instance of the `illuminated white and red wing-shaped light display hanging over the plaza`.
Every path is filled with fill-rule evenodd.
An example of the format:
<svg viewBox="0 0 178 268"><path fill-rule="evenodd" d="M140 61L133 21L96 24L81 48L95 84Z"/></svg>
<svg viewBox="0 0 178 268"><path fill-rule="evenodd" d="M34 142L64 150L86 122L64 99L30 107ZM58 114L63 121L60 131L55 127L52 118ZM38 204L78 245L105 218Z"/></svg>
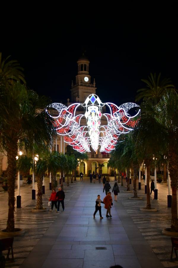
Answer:
<svg viewBox="0 0 178 268"><path fill-rule="evenodd" d="M84 114L77 114L79 107L84 107ZM102 113L102 107L107 106L109 113ZM53 103L52 108L59 113L52 116L55 119L56 132L64 136L64 142L71 145L78 152L90 152L90 146L96 152L100 146L100 152L110 153L115 149L120 134L133 130L138 120L140 109L134 116L128 111L139 105L127 102L120 106L113 103L102 103L96 94L87 97L84 103L74 103L68 107L61 103ZM51 116L51 115L50 115ZM102 116L107 125L101 125ZM86 126L80 126L81 118L85 117Z"/></svg>

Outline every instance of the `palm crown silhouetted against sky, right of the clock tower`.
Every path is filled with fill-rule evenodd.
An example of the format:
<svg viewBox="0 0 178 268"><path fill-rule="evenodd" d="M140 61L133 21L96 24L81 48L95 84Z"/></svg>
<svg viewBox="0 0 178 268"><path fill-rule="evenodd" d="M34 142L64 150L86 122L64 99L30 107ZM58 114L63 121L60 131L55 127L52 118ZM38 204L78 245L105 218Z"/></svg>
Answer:
<svg viewBox="0 0 178 268"><path fill-rule="evenodd" d="M158 77L156 74L153 75L150 73L148 79L142 79L146 84L146 87L137 91L136 101L150 101L152 106L155 106L166 90L175 88L175 86L171 84L169 78L163 78L163 80L161 80L160 77L161 73L158 74Z"/></svg>

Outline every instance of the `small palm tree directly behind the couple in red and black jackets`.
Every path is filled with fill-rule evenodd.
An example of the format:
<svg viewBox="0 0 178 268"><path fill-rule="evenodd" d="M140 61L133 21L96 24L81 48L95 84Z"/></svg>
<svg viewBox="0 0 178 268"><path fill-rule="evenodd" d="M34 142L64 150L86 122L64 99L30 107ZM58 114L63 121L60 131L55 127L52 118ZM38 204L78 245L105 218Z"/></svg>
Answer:
<svg viewBox="0 0 178 268"><path fill-rule="evenodd" d="M53 151L49 154L48 158L48 171L51 172L51 187L55 189L56 173L59 171L59 153Z"/></svg>

